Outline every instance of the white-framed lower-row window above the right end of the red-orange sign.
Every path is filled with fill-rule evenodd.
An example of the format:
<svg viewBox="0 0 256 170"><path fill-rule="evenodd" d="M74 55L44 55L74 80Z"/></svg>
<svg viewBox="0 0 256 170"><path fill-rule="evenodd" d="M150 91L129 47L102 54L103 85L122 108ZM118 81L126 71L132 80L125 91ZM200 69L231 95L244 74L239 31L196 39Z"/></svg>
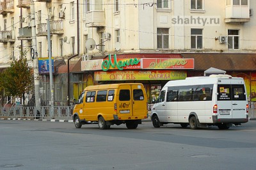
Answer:
<svg viewBox="0 0 256 170"><path fill-rule="evenodd" d="M191 29L191 49L203 48L203 29Z"/></svg>

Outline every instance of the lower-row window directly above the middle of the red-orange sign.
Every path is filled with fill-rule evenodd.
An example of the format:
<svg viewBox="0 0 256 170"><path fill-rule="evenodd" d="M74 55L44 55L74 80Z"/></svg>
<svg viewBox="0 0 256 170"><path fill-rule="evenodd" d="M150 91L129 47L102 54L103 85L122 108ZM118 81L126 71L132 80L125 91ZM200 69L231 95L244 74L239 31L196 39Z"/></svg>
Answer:
<svg viewBox="0 0 256 170"><path fill-rule="evenodd" d="M169 49L169 28L157 28L157 49Z"/></svg>

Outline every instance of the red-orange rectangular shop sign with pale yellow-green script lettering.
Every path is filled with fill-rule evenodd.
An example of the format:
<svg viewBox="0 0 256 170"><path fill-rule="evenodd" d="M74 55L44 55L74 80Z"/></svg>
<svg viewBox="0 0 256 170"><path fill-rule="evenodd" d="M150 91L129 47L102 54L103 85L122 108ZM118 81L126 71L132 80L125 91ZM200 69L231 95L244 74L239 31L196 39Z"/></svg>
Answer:
<svg viewBox="0 0 256 170"><path fill-rule="evenodd" d="M194 69L193 58L143 58L143 69Z"/></svg>

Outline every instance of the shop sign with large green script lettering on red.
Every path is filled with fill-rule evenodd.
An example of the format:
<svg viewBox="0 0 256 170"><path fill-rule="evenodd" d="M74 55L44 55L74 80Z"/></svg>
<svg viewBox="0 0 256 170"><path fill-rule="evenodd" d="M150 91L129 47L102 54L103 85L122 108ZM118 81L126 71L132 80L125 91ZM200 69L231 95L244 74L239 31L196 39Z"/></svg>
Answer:
<svg viewBox="0 0 256 170"><path fill-rule="evenodd" d="M117 59L116 54L114 58L111 58L109 54L108 59L104 59L102 62L101 68L103 71L108 71L110 69L115 70L124 70L124 69L140 69L140 59L130 58L130 59Z"/></svg>

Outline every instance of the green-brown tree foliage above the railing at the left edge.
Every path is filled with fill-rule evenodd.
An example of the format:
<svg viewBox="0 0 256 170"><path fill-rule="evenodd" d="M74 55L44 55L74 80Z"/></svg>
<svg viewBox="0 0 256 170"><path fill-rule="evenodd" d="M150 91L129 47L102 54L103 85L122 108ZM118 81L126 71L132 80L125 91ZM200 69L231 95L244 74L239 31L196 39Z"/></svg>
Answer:
<svg viewBox="0 0 256 170"><path fill-rule="evenodd" d="M1 75L1 85L6 95L22 97L23 93L33 89L33 75L27 59L13 61Z"/></svg>

